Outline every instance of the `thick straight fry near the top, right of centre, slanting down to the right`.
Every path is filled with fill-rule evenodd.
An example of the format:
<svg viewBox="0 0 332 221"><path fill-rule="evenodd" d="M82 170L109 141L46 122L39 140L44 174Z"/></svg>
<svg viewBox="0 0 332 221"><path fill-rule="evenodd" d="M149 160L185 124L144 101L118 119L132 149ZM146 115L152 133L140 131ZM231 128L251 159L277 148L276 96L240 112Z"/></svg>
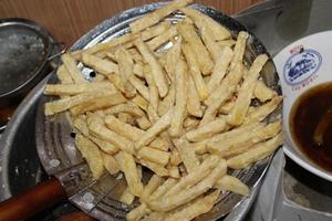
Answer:
<svg viewBox="0 0 332 221"><path fill-rule="evenodd" d="M210 74L214 69L214 61L210 59L210 55L204 46L200 38L196 34L194 25L181 22L177 25L177 29L184 40L188 42L191 48L201 73L204 75Z"/></svg>

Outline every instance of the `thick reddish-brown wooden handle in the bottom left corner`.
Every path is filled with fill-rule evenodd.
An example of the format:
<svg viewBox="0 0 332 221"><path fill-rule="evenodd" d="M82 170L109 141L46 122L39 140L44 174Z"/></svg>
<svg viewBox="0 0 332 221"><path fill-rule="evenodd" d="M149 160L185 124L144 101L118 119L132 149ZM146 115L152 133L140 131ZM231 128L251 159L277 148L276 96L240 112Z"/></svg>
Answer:
<svg viewBox="0 0 332 221"><path fill-rule="evenodd" d="M24 220L66 199L60 181L51 178L23 193L0 202L0 221Z"/></svg>

